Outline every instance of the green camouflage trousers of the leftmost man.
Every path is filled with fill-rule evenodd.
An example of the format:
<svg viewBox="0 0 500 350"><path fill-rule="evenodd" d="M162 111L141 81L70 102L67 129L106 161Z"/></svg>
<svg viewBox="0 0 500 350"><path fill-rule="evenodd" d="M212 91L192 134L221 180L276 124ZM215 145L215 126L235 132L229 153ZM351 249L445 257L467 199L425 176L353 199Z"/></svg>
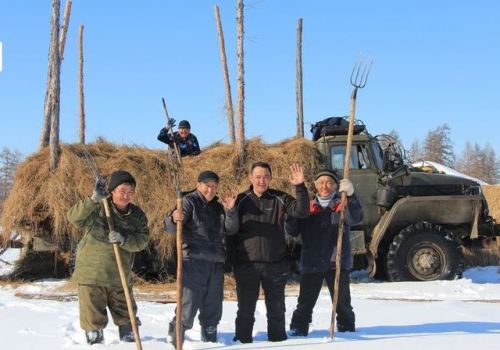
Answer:
<svg viewBox="0 0 500 350"><path fill-rule="evenodd" d="M137 305L130 288L130 297L137 314ZM120 289L112 289L96 285L78 285L78 301L80 307L80 327L85 331L104 329L108 324L107 308L113 322L117 326L130 324L125 293Z"/></svg>

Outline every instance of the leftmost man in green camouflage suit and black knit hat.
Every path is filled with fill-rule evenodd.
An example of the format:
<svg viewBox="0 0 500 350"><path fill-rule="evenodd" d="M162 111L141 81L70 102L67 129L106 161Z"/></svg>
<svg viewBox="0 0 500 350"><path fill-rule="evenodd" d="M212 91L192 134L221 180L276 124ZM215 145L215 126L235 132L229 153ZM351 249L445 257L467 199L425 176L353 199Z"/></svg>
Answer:
<svg viewBox="0 0 500 350"><path fill-rule="evenodd" d="M135 187L134 177L126 171L115 171L109 177L114 231L109 232L101 205L107 193L100 181L96 183L92 196L80 200L67 214L73 225L85 231L78 243L72 279L78 283L80 326L85 330L89 344L104 343L103 330L108 323L106 308L118 326L120 340L135 341L113 251L113 244L118 243L136 314L131 270L134 253L143 250L148 243L149 229L144 212L131 203Z"/></svg>

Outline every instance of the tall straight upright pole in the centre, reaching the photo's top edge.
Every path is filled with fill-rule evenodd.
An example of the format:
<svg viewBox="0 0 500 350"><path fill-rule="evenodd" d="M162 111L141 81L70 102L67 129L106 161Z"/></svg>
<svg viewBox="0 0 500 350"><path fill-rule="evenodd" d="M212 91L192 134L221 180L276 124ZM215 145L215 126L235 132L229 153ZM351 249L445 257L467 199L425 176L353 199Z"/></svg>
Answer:
<svg viewBox="0 0 500 350"><path fill-rule="evenodd" d="M238 58L238 140L237 150L239 166L243 166L245 160L245 68L243 55L243 0L238 0L236 21L238 28L238 44L236 56Z"/></svg>

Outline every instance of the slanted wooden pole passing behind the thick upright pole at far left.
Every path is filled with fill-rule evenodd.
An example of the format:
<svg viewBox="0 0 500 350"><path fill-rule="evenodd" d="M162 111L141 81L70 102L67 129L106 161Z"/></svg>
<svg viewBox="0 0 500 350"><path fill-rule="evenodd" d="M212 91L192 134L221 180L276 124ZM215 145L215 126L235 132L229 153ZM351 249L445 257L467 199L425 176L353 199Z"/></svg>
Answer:
<svg viewBox="0 0 500 350"><path fill-rule="evenodd" d="M69 27L69 17L71 14L71 5L72 5L72 0L68 0L66 2L66 7L64 9L64 18L63 18L63 24L61 26L61 37L59 41L59 59L62 61L63 55L64 55L64 47L66 44L66 33L68 31ZM57 17L57 21L59 23L59 16ZM58 24L59 25L59 24ZM51 24L52 26L52 24ZM50 61L50 47L52 46L52 42L49 44L49 61ZM44 100L44 108L43 108L43 127L42 127L42 133L40 134L40 144L39 148L47 147L49 145L50 141L50 124L51 124L51 116L50 116L50 111L52 110L52 106L50 106L50 98L49 98L49 90L48 87L50 85L50 80L52 79L52 71L50 67L50 62L49 62L49 69L47 70L47 91L45 91L45 100Z"/></svg>

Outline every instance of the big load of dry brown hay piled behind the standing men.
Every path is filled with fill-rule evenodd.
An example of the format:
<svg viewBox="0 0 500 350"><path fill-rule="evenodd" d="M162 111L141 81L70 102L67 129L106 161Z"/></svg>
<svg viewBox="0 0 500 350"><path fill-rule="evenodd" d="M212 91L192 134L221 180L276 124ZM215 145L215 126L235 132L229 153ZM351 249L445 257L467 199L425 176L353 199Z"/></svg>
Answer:
<svg viewBox="0 0 500 350"><path fill-rule="evenodd" d="M163 233L163 218L175 204L175 191L170 172L172 164L164 150L138 146L118 146L105 141L86 146L104 176L117 169L129 171L137 180L134 201L149 220L152 242L162 258L174 252L174 240ZM218 144L203 150L199 156L184 158L182 190L195 188L202 170L214 170L221 177L220 192L239 192L248 187L248 170L255 161L266 161L273 167L272 187L291 191L289 166L298 162L306 171L309 183L320 166L314 143L293 139L278 144L264 144L259 139L248 141L247 159L243 169L236 166L236 153L231 145ZM66 219L68 209L80 198L92 193L94 179L87 169L83 146L61 145L57 171L49 172L49 152L44 149L28 157L14 177L14 186L3 208L1 225L3 240L9 232L18 232L28 242L43 237L63 249L77 242L82 232Z"/></svg>

